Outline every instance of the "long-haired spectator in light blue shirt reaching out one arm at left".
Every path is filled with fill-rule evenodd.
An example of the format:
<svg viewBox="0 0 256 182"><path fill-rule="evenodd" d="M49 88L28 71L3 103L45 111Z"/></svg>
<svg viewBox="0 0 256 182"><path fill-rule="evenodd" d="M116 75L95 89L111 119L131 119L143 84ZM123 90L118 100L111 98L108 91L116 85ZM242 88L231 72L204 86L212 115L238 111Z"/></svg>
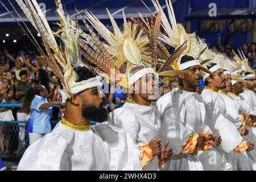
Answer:
<svg viewBox="0 0 256 182"><path fill-rule="evenodd" d="M22 109L26 114L31 113L28 119L27 132L30 137L30 145L51 132L52 106L61 105L60 102L47 101L47 89L43 85L38 85L27 92Z"/></svg>

